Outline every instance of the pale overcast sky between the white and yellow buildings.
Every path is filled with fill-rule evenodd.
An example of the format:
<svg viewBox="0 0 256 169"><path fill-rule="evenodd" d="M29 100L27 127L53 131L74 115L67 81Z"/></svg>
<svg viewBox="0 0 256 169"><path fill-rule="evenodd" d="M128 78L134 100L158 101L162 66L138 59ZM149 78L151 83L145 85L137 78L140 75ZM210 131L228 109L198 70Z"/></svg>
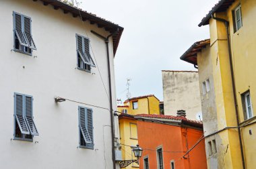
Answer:
<svg viewBox="0 0 256 169"><path fill-rule="evenodd" d="M115 56L117 98L156 95L162 101L161 70L195 70L180 56L210 37L197 25L218 0L77 0L82 8L125 28Z"/></svg>

